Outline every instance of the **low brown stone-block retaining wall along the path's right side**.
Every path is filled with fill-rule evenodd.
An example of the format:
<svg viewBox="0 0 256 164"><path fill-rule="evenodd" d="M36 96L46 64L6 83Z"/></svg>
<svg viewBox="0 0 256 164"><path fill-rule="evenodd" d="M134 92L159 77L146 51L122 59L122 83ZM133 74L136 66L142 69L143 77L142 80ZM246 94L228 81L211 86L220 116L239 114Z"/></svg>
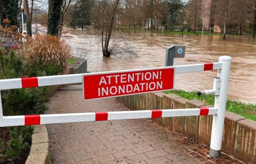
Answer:
<svg viewBox="0 0 256 164"><path fill-rule="evenodd" d="M131 110L210 108L196 99L188 100L175 94L146 93L117 98ZM212 116L153 118L158 124L193 140L210 145ZM222 152L249 164L256 164L256 122L226 112Z"/></svg>

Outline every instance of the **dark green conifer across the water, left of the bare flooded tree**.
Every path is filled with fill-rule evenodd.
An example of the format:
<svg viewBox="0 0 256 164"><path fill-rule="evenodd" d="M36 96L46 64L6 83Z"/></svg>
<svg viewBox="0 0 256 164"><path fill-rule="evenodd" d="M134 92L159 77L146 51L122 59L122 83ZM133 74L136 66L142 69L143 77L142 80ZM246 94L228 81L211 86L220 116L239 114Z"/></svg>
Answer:
<svg viewBox="0 0 256 164"><path fill-rule="evenodd" d="M76 1L71 19L72 26L80 25L83 30L84 25L89 25L91 23L91 7L91 0Z"/></svg>

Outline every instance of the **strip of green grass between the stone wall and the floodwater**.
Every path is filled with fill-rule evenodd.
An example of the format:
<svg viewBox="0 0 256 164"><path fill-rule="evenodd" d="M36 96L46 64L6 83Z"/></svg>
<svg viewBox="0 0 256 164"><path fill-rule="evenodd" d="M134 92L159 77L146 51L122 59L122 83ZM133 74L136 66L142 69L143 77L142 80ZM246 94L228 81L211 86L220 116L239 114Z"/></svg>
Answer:
<svg viewBox="0 0 256 164"><path fill-rule="evenodd" d="M200 101L203 100L203 95L198 96L196 94L196 91L187 92L184 90L170 90L170 91L164 91L164 93L173 93L186 99L198 99ZM210 105L214 105L214 98L215 98L214 95L206 95L205 96L206 103ZM239 114L240 116L251 119L253 121L256 121L256 104L244 103L244 102L228 99L226 110Z"/></svg>

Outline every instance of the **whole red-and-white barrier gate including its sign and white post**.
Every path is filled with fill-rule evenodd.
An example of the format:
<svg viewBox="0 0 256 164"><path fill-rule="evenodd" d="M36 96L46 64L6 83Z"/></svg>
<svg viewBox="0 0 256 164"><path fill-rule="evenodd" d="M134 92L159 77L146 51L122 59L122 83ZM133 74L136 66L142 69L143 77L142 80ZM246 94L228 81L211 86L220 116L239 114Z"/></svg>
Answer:
<svg viewBox="0 0 256 164"><path fill-rule="evenodd" d="M171 90L174 88L174 74L218 70L217 78L214 79L213 89L205 91L205 93L215 95L214 108L3 116L0 93L0 127L135 118L213 115L210 156L219 157L226 110L230 64L231 58L229 56L221 56L219 57L219 62L215 63L101 73L1 79L0 90L83 82L84 99L97 99Z"/></svg>

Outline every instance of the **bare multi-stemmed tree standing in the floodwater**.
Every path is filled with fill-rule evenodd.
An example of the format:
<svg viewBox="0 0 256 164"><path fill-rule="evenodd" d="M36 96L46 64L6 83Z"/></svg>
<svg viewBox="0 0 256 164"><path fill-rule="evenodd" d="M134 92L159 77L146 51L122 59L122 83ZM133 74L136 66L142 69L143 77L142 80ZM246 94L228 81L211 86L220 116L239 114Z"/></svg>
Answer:
<svg viewBox="0 0 256 164"><path fill-rule="evenodd" d="M99 0L95 6L95 26L101 31L102 54L110 57L112 49L109 50L109 41L116 23L117 9L120 0Z"/></svg>

